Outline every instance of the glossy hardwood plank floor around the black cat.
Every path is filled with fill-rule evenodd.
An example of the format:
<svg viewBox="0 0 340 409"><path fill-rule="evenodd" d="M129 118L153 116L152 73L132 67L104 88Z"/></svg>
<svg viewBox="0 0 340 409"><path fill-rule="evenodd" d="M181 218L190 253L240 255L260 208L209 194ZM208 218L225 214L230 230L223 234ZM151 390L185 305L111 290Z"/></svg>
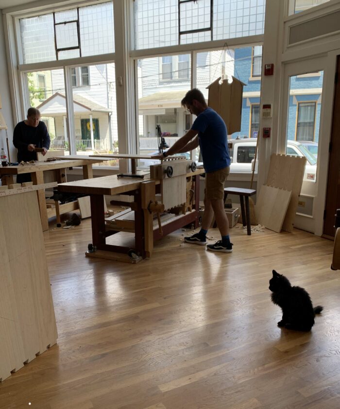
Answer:
<svg viewBox="0 0 340 409"><path fill-rule="evenodd" d="M84 256L89 220L50 225L58 343L0 384L0 408L339 408L333 243L299 230L247 236L238 225L234 252L216 254L183 243L187 234L127 264ZM277 327L272 269L324 306L310 333Z"/></svg>

